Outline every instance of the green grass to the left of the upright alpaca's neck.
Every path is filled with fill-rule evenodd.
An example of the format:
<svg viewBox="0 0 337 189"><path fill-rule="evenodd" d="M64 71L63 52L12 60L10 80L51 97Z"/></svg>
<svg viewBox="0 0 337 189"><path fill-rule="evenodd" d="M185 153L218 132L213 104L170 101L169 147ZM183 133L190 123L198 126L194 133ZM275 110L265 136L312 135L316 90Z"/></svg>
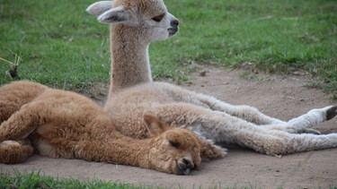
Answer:
<svg viewBox="0 0 337 189"><path fill-rule="evenodd" d="M20 79L53 87L109 82L109 29L84 11L91 3L1 0L0 56L16 60ZM0 84L13 81L11 69L0 62Z"/></svg>

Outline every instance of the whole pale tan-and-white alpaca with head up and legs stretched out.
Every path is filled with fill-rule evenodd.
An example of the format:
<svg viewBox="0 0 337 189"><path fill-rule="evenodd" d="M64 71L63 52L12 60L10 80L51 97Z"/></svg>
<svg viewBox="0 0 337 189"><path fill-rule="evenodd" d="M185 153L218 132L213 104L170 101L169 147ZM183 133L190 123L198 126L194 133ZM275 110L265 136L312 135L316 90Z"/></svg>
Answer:
<svg viewBox="0 0 337 189"><path fill-rule="evenodd" d="M317 135L311 129L336 116L337 107L312 109L285 122L254 107L234 106L170 83L143 80L151 74L148 44L172 36L179 23L162 0L97 2L87 12L111 24L111 88L104 109L120 133L147 138L146 127L139 123L142 115L151 114L166 125L190 128L214 142L235 143L267 155L337 147L337 133Z"/></svg>

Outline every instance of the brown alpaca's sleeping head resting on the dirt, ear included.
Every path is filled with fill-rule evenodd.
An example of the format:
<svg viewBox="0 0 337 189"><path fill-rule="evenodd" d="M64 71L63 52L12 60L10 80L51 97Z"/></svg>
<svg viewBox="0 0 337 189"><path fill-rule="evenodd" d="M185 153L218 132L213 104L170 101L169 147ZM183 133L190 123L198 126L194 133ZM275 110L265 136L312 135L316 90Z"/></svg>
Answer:
<svg viewBox="0 0 337 189"><path fill-rule="evenodd" d="M195 133L179 127L170 127L154 116L144 116L154 145L148 156L150 164L159 171L187 175L200 167L200 141Z"/></svg>

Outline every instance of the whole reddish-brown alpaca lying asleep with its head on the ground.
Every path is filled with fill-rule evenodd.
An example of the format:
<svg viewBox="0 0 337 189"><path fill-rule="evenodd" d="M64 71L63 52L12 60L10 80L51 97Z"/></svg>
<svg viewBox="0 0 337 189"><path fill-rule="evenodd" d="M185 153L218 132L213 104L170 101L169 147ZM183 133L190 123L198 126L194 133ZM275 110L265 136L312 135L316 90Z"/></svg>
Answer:
<svg viewBox="0 0 337 189"><path fill-rule="evenodd" d="M36 82L0 88L0 163L21 163L36 150L51 158L85 159L188 174L200 167L200 140L146 115L149 139L117 132L92 100Z"/></svg>

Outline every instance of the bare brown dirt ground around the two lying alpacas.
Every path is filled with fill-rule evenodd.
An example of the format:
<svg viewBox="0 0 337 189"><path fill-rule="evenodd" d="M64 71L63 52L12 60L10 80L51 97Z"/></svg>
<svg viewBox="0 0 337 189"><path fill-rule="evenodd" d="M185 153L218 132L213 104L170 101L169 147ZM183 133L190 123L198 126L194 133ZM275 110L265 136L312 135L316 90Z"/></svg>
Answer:
<svg viewBox="0 0 337 189"><path fill-rule="evenodd" d="M289 75L257 75L260 82L239 76L244 71L204 68L192 73L191 81L183 87L212 95L232 104L257 107L263 113L288 120L315 107L337 105L321 90L304 87L306 79ZM94 95L94 91L91 96ZM99 102L106 89L98 92ZM97 98L96 98L97 100ZM337 133L337 118L320 125L321 133ZM337 148L308 151L281 158L262 155L238 147L228 149L225 159L205 162L199 171L189 176L175 176L155 170L87 162L78 159L49 159L35 155L19 165L0 165L2 172L14 169L39 171L47 176L98 178L103 181L172 188L208 188L246 186L253 188L327 188L337 186Z"/></svg>

